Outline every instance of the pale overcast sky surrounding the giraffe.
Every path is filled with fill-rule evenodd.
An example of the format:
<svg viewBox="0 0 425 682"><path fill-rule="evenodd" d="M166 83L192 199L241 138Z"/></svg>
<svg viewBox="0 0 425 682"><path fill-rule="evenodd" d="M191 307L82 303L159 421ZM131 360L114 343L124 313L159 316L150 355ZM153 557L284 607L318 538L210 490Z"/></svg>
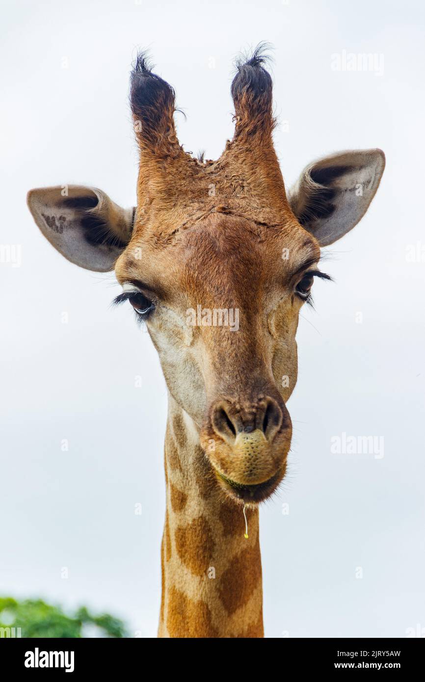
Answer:
<svg viewBox="0 0 425 682"><path fill-rule="evenodd" d="M410 245L425 252L423 3L2 0L1 14L0 243L20 245L21 263L0 263L0 594L85 603L156 634L158 357L130 306L108 308L114 276L55 252L25 194L82 183L134 205L138 47L177 91L185 148L216 158L233 132L233 57L267 40L276 113L289 121L275 135L287 184L341 149L381 147L387 168L366 217L327 249L336 284L316 282L317 312L302 310L290 472L261 509L265 634L425 628L425 254L407 261ZM377 55L383 73L332 70L343 50ZM383 436L383 458L331 454L342 432Z"/></svg>

